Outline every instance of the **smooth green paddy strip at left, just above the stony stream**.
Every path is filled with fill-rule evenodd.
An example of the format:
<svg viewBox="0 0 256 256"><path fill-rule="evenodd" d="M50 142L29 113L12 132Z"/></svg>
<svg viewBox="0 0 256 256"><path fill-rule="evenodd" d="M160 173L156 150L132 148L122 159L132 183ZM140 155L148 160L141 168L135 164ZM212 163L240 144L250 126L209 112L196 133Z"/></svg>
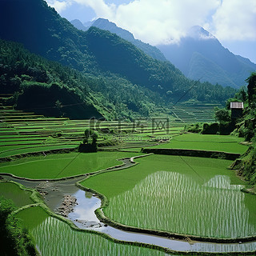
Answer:
<svg viewBox="0 0 256 256"><path fill-rule="evenodd" d="M118 162L117 159L135 155L138 154L124 152L52 154L46 157L3 162L0 164L0 173L35 179L64 178L120 165L122 162Z"/></svg>

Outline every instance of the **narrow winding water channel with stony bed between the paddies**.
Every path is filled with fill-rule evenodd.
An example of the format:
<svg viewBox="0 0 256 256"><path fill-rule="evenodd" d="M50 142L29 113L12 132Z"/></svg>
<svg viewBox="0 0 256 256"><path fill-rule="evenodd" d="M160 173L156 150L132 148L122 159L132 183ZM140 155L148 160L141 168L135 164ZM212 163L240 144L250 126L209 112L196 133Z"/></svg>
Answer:
<svg viewBox="0 0 256 256"><path fill-rule="evenodd" d="M130 161L123 161L127 166L132 165ZM107 226L100 222L94 210L101 206L101 200L94 194L80 190L75 186L76 182L81 181L84 177L73 178L66 181L52 182L52 181L27 181L22 178L13 178L9 175L1 174L6 180L21 183L23 186L30 188L37 188L44 193L46 205L54 212L62 204L63 197L72 195L77 200L77 205L74 206L73 211L68 214L69 218L76 226L83 230L97 230L104 234L109 234L112 238L129 241L129 242L143 242L169 248L170 250L189 251L189 252L246 252L255 251L256 242L244 243L210 243L210 242L185 242L182 240L162 238L160 236L141 234L136 232L128 232L119 230L112 226Z"/></svg>

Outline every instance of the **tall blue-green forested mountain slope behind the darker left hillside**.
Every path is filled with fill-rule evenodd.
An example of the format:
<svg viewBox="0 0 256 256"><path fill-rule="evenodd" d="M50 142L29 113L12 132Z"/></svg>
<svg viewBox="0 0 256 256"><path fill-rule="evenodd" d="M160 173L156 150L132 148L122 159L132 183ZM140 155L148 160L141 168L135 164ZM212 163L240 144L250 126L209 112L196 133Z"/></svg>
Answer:
<svg viewBox="0 0 256 256"><path fill-rule="evenodd" d="M224 102L234 94L229 87L191 81L170 62L150 58L109 31L78 30L43 0L2 0L0 12L0 38L82 71L109 113L147 115L180 98Z"/></svg>

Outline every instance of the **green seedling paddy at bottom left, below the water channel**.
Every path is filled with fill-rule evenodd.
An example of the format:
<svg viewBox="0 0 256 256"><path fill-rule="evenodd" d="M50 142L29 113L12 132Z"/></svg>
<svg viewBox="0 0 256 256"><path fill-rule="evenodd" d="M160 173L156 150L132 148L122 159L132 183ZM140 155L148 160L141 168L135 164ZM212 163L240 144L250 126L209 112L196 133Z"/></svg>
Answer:
<svg viewBox="0 0 256 256"><path fill-rule="evenodd" d="M97 234L72 230L65 222L49 217L40 207L17 214L33 234L42 256L154 255L163 252L111 242Z"/></svg>

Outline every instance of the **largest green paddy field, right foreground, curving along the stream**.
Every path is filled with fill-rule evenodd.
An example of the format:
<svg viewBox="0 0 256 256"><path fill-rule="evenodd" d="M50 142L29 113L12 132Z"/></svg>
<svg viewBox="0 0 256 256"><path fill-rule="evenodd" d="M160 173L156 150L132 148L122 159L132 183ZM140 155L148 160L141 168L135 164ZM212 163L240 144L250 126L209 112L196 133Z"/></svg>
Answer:
<svg viewBox="0 0 256 256"><path fill-rule="evenodd" d="M82 185L105 194L104 212L128 226L178 234L237 238L256 234L256 198L226 170L227 160L151 155L128 170Z"/></svg>

